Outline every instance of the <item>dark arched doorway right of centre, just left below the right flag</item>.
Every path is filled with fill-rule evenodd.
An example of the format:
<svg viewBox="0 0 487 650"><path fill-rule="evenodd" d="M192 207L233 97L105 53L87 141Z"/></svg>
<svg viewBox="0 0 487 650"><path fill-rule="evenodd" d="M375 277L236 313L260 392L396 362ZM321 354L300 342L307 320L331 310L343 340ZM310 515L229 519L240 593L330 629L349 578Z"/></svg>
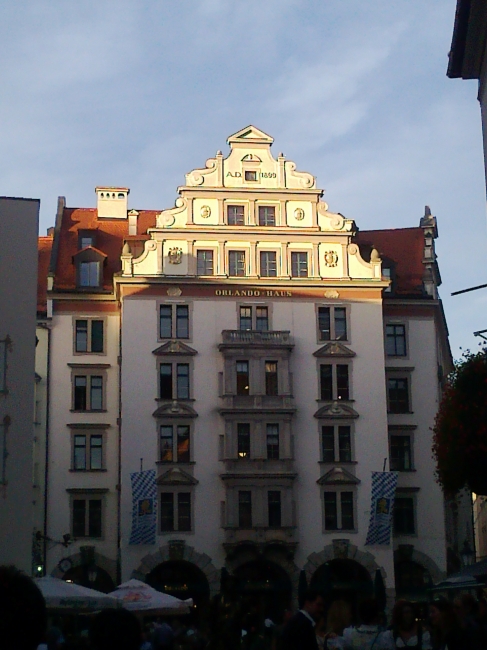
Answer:
<svg viewBox="0 0 487 650"><path fill-rule="evenodd" d="M327 605L334 600L345 600L351 609L352 619L358 621L358 607L364 598L373 596L373 583L369 572L355 560L335 559L316 569L310 587L323 594Z"/></svg>

